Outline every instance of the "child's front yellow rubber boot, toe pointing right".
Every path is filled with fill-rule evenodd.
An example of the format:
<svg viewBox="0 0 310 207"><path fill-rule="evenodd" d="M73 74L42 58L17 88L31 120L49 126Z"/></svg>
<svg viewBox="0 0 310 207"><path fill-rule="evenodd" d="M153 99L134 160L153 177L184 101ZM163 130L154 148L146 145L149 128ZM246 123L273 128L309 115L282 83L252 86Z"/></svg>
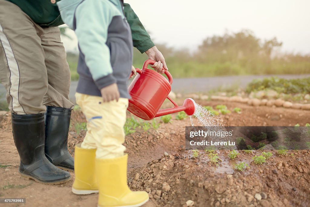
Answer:
<svg viewBox="0 0 310 207"><path fill-rule="evenodd" d="M131 191L127 185L127 157L96 159L98 207L138 207L148 201L147 192Z"/></svg>

